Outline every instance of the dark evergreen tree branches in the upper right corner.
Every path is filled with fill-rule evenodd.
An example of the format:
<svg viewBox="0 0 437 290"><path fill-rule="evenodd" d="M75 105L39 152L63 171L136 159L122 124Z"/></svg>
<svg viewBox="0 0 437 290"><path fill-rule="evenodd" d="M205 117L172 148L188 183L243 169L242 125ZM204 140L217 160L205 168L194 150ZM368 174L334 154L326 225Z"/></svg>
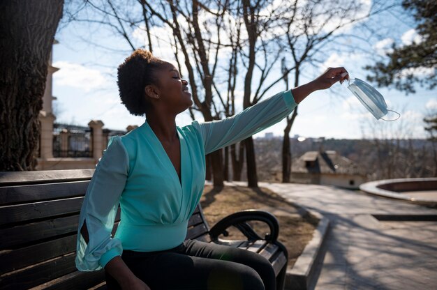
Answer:
<svg viewBox="0 0 437 290"><path fill-rule="evenodd" d="M394 84L396 89L406 93L415 93L416 83L434 89L437 85L437 2L403 0L402 6L413 13L420 40L413 40L410 45L393 45L392 52L387 53L387 62L366 66L372 73L367 79L379 86Z"/></svg>

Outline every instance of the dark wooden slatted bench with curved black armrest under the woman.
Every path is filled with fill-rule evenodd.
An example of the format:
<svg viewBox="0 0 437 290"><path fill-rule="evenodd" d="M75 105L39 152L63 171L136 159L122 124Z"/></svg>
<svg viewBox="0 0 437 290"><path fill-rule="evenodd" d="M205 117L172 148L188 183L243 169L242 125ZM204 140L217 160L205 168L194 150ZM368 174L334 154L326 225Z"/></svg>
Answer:
<svg viewBox="0 0 437 290"><path fill-rule="evenodd" d="M75 268L77 222L94 169L0 172L0 289L105 289L103 270ZM260 238L250 220L267 223L271 232ZM114 231L119 222L119 213ZM234 225L245 241L219 238ZM283 289L288 261L276 241L279 225L264 211L235 213L211 229L200 205L188 222L186 238L221 243L258 252L272 263L277 289Z"/></svg>

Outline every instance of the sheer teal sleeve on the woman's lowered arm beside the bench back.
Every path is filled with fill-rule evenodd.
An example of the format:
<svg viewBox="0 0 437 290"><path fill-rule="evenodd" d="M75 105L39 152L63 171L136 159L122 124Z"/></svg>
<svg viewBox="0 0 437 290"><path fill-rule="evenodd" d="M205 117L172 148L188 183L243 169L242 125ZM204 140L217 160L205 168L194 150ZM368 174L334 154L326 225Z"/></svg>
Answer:
<svg viewBox="0 0 437 290"><path fill-rule="evenodd" d="M76 267L82 271L99 270L121 255L121 241L111 237L119 197L128 176L128 153L120 137L114 137L96 167L80 211L77 231ZM83 224L89 242L80 233Z"/></svg>

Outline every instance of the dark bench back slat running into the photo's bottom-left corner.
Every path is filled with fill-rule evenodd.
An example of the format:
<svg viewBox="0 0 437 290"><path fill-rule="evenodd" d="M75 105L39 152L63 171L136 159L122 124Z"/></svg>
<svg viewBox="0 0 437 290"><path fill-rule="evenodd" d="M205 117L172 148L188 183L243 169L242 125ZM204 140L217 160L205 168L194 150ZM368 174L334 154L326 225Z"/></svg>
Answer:
<svg viewBox="0 0 437 290"><path fill-rule="evenodd" d="M3 275L0 277L0 288L3 290L29 289L74 272L76 270L74 259L75 253L71 253L12 274Z"/></svg>

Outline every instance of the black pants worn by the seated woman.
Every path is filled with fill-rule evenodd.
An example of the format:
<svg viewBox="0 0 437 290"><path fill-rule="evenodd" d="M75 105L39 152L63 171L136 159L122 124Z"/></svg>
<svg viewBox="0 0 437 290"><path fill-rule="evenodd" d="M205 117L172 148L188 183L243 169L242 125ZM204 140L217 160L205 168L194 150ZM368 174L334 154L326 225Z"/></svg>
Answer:
<svg viewBox="0 0 437 290"><path fill-rule="evenodd" d="M195 240L161 252L124 251L123 261L151 290L274 290L272 265L246 250ZM108 289L120 289L106 275Z"/></svg>

